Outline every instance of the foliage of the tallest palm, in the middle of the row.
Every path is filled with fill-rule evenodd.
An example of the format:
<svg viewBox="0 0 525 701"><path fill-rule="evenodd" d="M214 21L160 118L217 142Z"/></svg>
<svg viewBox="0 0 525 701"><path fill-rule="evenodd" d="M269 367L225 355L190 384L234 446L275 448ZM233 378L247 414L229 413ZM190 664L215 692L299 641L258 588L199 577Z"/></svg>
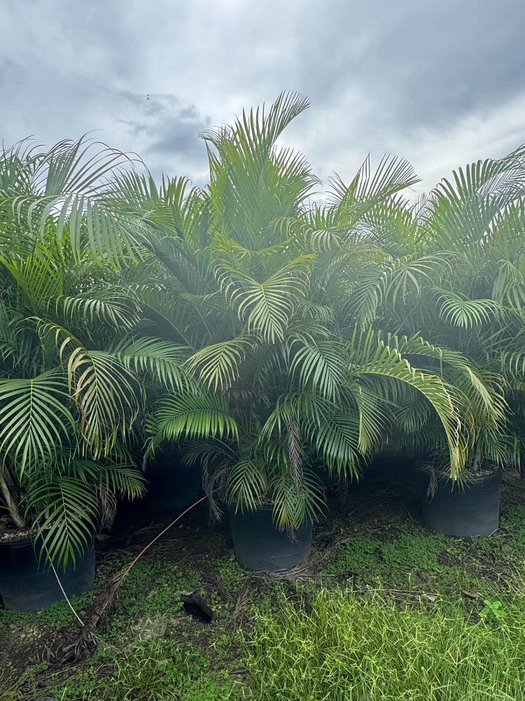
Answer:
<svg viewBox="0 0 525 701"><path fill-rule="evenodd" d="M439 421L454 473L467 440L440 361L422 372L410 360L421 339L360 324L353 304L359 269L386 255L367 238L370 219L416 182L412 169L385 158L372 172L366 161L349 186L334 182L328 205L311 205L309 165L276 143L305 107L283 94L204 135L206 189L137 175L116 184L147 241L125 271L142 330L185 354L179 386L151 418L151 449L185 440L188 461L226 475L231 501L270 498L290 527L322 503L316 463L356 475L400 417L419 420L406 409L414 395ZM466 365L459 354L456 365Z"/></svg>

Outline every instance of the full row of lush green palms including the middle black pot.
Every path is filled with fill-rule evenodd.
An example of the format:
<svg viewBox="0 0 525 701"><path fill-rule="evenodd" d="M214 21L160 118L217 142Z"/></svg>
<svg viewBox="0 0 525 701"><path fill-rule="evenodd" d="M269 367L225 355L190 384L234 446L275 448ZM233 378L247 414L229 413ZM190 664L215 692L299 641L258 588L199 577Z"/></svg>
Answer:
<svg viewBox="0 0 525 701"><path fill-rule="evenodd" d="M367 160L321 202L278 145L307 106L204 135L205 189L83 140L3 154L0 486L62 578L165 442L262 569L306 554L321 465L386 443L433 484L519 465L524 152L416 203L406 161Z"/></svg>

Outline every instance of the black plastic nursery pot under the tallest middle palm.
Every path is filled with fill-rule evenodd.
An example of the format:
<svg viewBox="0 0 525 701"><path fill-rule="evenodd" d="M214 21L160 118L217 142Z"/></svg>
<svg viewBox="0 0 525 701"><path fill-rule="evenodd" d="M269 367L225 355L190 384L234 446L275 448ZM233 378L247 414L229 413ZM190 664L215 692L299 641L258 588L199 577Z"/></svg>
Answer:
<svg viewBox="0 0 525 701"><path fill-rule="evenodd" d="M248 569L284 572L302 562L311 550L312 524L304 524L290 536L274 523L272 507L256 511L228 509L237 562Z"/></svg>

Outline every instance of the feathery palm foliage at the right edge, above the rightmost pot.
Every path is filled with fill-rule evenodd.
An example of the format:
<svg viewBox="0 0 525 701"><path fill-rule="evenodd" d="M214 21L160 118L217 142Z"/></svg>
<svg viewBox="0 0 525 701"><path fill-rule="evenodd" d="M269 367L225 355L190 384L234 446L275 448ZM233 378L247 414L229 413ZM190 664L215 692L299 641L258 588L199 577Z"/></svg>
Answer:
<svg viewBox="0 0 525 701"><path fill-rule="evenodd" d="M398 197L372 212L371 243L386 252L358 276L356 311L380 328L419 332L468 360L461 390L470 468L521 462L525 299L525 147L454 171L415 205ZM449 352L447 351L447 355ZM475 379L475 385L472 380ZM474 390L474 391L472 391ZM442 455L435 423L405 438ZM415 439L415 440L414 440Z"/></svg>

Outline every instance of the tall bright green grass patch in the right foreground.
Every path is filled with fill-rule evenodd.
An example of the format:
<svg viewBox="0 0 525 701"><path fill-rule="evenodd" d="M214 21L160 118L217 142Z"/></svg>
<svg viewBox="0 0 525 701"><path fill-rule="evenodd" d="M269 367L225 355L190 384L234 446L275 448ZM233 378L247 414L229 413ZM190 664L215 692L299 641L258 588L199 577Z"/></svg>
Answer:
<svg viewBox="0 0 525 701"><path fill-rule="evenodd" d="M248 638L255 698L520 701L525 594L500 610L468 617L448 601L414 605L328 590L304 608L285 602L258 614Z"/></svg>

